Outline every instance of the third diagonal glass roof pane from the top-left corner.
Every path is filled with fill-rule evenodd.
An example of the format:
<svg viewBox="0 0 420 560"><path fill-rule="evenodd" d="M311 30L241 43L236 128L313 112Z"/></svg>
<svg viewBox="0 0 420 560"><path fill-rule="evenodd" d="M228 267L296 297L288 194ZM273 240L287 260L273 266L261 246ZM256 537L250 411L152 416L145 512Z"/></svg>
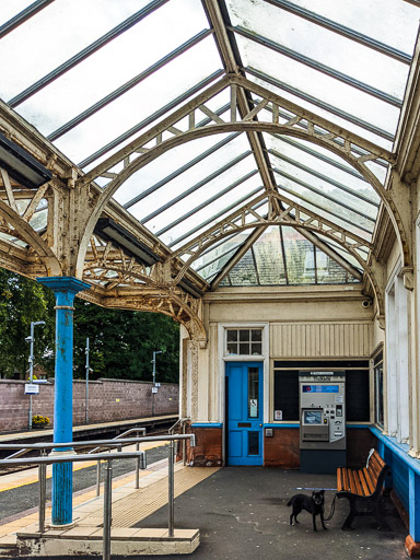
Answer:
<svg viewBox="0 0 420 560"><path fill-rule="evenodd" d="M200 32L202 30L202 26L199 26L202 25L201 19L187 19L184 20L183 25L174 25L165 40L153 42L153 48L150 48L156 30L164 27L171 21L176 21L180 8L180 0L172 0L162 5L91 55L82 63L22 103L19 106L19 112L32 122L36 122L36 117L45 114L45 107L56 107L55 112L48 112L48 119L39 119L36 122L44 135L51 133ZM124 65L121 60L127 57L128 52L141 52L141 56L132 57L130 63ZM206 67L206 65L203 66ZM81 84L83 84L82 88ZM141 91L139 90L139 92ZM55 103L55 100L58 98L60 100L59 107ZM143 96L138 98L141 100L138 102L139 105L147 105ZM57 110L58 108L59 110Z"/></svg>

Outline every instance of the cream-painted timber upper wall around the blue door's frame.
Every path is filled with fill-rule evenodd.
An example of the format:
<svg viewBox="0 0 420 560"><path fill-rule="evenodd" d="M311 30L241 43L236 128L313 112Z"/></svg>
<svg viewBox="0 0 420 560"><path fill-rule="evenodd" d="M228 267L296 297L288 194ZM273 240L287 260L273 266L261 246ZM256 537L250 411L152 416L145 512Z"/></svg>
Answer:
<svg viewBox="0 0 420 560"><path fill-rule="evenodd" d="M223 422L224 363L220 348L224 340L218 339L220 324L267 324L266 378L269 359L370 357L374 340L373 308L362 306L366 298L353 287L350 290L319 288L319 291L318 287L316 291L313 287L252 291L223 289L205 296L209 342L206 349L198 348L196 364L184 366L188 376L183 384L187 392L184 401L188 402L186 409L192 421ZM290 340L295 337L300 343L284 346L281 343L283 337ZM189 351L188 358L194 360L194 352Z"/></svg>

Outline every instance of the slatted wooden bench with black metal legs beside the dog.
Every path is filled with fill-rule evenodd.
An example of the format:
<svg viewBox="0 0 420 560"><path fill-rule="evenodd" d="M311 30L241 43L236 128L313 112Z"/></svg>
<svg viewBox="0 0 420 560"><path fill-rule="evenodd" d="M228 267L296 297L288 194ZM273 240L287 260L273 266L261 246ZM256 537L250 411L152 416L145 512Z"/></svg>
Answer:
<svg viewBox="0 0 420 560"><path fill-rule="evenodd" d="M388 465L374 448L369 453L365 467L337 469L337 498L347 498L350 504L350 513L341 529L351 529L353 518L359 515L374 515L380 527L386 528L380 498L388 469Z"/></svg>

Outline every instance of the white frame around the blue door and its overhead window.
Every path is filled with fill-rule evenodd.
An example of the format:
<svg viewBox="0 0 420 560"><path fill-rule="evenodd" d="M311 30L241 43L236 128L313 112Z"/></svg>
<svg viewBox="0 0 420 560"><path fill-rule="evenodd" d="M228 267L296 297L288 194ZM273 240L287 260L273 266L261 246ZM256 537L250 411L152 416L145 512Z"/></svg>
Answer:
<svg viewBox="0 0 420 560"><path fill-rule="evenodd" d="M226 348L226 329L228 328L261 328L262 329L262 354L261 355L228 355L225 354ZM222 462L226 464L226 402L225 402L225 377L226 377L226 363L228 362L261 362L262 363L262 465L264 465L264 424L269 423L270 410L270 358L269 358L269 323L268 322L254 322L254 323L219 323L218 324L218 357L219 357L219 418L223 422L222 429Z"/></svg>

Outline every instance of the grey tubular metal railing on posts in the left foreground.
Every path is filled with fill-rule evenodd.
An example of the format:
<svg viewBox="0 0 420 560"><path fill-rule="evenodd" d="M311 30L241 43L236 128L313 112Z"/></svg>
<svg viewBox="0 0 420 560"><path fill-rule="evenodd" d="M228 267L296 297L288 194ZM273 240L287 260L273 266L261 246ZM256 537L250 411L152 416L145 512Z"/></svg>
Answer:
<svg viewBox="0 0 420 560"><path fill-rule="evenodd" d="M67 448L71 450L72 447L81 447L81 446L100 446L100 447L115 447L117 446L119 451L117 453L97 453L95 455L95 459L106 460L107 465L105 468L105 486L104 486L104 533L103 533L103 559L110 559L110 524L112 524L112 483L113 483L113 459L122 459L122 458L139 458L141 464L144 465L145 462L141 460L144 457L143 451L136 452L124 452L120 451L122 445L129 445L133 443L143 443L143 442L155 442L155 441L168 441L168 527L167 533L170 537L174 536L174 442L178 440L189 439L190 445L194 447L196 445L195 434L178 434L178 435L155 435L155 436L143 436L143 438L127 438L120 439L118 443L115 440L98 440L91 442L69 442L69 443L34 443L25 445L25 453L32 450L38 450L40 453L39 457L28 457L28 458L20 458L18 453L9 456L5 459L0 460L0 469L2 467L10 466L22 466L22 465L38 465L38 477L39 477L39 518L38 518L38 527L39 533L45 532L45 509L46 509L46 480L47 480L47 465L52 465L56 463L77 463L82 460L92 460L92 454L80 454L80 455L66 455L63 457L59 457L57 455L46 456L47 450L59 450ZM16 450L20 446L16 444L0 444L1 450ZM23 451L23 450L21 450ZM71 450L72 451L72 450ZM11 458L13 457L13 458Z"/></svg>

